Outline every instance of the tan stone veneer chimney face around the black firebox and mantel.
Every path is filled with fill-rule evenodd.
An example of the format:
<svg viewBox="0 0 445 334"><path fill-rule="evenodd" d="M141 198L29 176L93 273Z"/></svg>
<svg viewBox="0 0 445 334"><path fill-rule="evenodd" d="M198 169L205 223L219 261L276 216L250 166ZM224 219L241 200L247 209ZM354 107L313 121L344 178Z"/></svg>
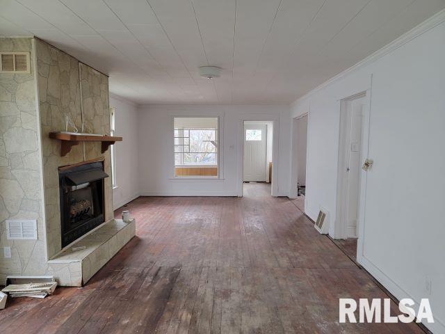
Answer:
<svg viewBox="0 0 445 334"><path fill-rule="evenodd" d="M48 257L52 257L61 250L58 167L103 157L105 172L111 175L111 157L109 150L102 154L101 143L88 142L73 146L70 153L60 157L60 142L49 139L49 132L64 131L68 115L79 132L83 129L83 122L86 125L83 132L110 134L108 77L42 40L36 39L35 47L42 123ZM107 177L104 182L107 221L113 218L113 211L107 210L108 207L112 208L113 203L111 177Z"/></svg>

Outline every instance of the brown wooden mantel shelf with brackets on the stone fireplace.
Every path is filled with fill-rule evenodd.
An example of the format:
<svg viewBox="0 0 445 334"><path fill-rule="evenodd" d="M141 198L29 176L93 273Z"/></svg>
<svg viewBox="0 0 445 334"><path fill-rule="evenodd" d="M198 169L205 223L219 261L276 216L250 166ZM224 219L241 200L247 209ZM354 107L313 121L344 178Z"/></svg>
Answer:
<svg viewBox="0 0 445 334"><path fill-rule="evenodd" d="M65 155L71 151L72 146L79 145L81 141L102 142L102 153L108 150L108 147L113 145L116 141L122 141L122 137L102 136L97 134L72 134L67 132L50 132L49 138L58 139L61 142L60 157L65 157Z"/></svg>

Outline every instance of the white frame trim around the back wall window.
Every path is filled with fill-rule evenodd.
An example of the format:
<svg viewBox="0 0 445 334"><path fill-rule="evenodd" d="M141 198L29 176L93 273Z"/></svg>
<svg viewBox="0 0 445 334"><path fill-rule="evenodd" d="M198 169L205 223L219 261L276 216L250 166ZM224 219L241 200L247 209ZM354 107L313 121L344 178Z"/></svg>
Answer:
<svg viewBox="0 0 445 334"><path fill-rule="evenodd" d="M214 129L215 130L215 139L216 139L216 165L209 165L209 166L216 166L216 176L177 176L176 175L176 160L175 160L175 147L177 145L175 145L175 118L216 118L216 122L217 122L217 128ZM183 116L183 115L179 115L179 116L172 116L172 146L173 146L173 152L172 152L172 177L170 180L221 180L221 175L223 175L221 173L222 169L221 169L221 161L222 161L222 156L220 154L220 151L222 150L222 143L221 143L221 138L222 138L222 129L221 129L221 122L220 122L220 116L218 115L205 115L205 116ZM190 134L189 134L190 136ZM190 139L188 141L189 145L190 145ZM188 166L188 167L203 167L205 168L207 165L203 164L203 165L183 165L183 166Z"/></svg>

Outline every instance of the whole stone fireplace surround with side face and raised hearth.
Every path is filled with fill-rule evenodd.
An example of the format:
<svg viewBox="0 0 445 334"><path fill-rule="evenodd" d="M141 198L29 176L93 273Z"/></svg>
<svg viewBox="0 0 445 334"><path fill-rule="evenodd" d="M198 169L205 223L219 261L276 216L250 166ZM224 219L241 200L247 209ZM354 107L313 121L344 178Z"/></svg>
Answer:
<svg viewBox="0 0 445 334"><path fill-rule="evenodd" d="M0 285L8 275L51 275L81 286L135 235L135 222L114 220L107 177L105 223L62 247L58 168L99 159L111 175L111 157L94 142L60 157L49 132L65 130L68 115L79 131L110 134L108 77L37 38L0 38L0 51L31 53L31 74L0 74L0 241L12 253L0 257ZM38 239L6 239L6 219L36 219Z"/></svg>

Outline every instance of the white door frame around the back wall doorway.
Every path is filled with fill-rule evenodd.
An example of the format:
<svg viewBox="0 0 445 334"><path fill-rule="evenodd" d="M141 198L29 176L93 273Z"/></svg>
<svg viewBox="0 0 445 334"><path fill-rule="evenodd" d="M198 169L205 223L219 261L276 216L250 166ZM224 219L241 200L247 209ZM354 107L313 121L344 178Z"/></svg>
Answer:
<svg viewBox="0 0 445 334"><path fill-rule="evenodd" d="M271 196L278 196L278 158L279 158L279 143L280 143L280 119L277 116L272 115L255 115L243 116L241 120L238 121L238 172L237 179L238 182L238 197L243 197L243 172L244 172L244 122L254 121L254 122L272 122L272 182L270 184Z"/></svg>

